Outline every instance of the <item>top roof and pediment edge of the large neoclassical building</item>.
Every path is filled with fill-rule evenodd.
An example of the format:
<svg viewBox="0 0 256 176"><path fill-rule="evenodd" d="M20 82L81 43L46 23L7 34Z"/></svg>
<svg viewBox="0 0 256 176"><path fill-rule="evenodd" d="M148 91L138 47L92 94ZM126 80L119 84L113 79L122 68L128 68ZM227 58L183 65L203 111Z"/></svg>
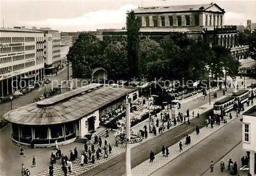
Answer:
<svg viewBox="0 0 256 176"><path fill-rule="evenodd" d="M141 7L134 9L134 13L163 13L163 12L186 12L186 11L205 11L208 8L216 6L222 12L225 12L217 4L196 4L181 6L159 6L159 7Z"/></svg>

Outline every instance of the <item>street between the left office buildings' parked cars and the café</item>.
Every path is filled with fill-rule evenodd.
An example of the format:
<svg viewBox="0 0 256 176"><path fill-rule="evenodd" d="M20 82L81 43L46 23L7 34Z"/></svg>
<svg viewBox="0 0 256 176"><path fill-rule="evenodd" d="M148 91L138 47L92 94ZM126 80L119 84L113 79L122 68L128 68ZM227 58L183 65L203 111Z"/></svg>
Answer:
<svg viewBox="0 0 256 176"><path fill-rule="evenodd" d="M69 68L69 75L70 75L69 78L70 79L72 79L71 74L72 74L72 69L70 67ZM49 84L46 84L47 85L46 91L49 91L49 89L56 87L58 85L58 82L60 83L61 80L67 80L67 76L68 76L68 69L59 73L57 76L46 77L46 79L52 80L52 82L50 82ZM44 94L44 92L45 92L45 87L39 87L38 89L35 89L23 96L15 98L12 100L12 108L16 109L18 107L28 105L28 104L32 103L34 98L38 97L41 94ZM0 118L2 118L2 116L5 113L7 113L8 111L11 111L10 102L5 102L5 103L0 104Z"/></svg>

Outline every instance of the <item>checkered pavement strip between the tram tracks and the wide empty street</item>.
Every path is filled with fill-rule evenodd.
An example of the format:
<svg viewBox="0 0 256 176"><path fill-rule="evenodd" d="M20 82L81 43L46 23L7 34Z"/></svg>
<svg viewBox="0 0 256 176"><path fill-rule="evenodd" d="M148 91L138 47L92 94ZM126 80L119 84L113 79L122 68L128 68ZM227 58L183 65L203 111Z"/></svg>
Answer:
<svg viewBox="0 0 256 176"><path fill-rule="evenodd" d="M247 109L249 109L250 107L251 106L245 106L245 111L247 111ZM231 113L232 113L232 117L234 117L234 118L228 119L227 123L236 119L236 112L232 111ZM160 152L157 155L155 155L155 160L154 160L153 163L150 163L149 162L150 160L147 160L147 161L141 163L140 165L138 165L137 167L133 168L132 169L132 175L140 175L140 176L151 175L153 172L155 172L159 168L163 167L168 162L174 160L176 157L181 155L181 153L185 152L186 150L190 149L191 147L193 147L197 143L201 142L202 140L204 140L205 138L210 136L211 134L215 133L215 131L219 130L220 128L222 128L226 124L224 124L222 122L222 123L220 123L220 125L215 125L214 128L210 128L210 127L201 128L200 129L200 135L197 135L196 132L194 132L190 135L191 139L192 139L191 144L186 145L185 144L185 138L183 140L181 140L181 142L183 144L183 151L181 151L181 152L179 151L179 142L178 142L175 145L172 145L172 146L168 147L169 153L170 153L169 157L163 157L162 153Z"/></svg>

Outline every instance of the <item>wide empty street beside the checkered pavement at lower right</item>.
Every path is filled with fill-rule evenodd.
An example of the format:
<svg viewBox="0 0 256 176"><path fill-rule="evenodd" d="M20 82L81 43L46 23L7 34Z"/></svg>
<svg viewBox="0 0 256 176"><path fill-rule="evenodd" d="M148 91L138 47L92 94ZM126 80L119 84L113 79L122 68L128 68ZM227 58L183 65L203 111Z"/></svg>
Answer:
<svg viewBox="0 0 256 176"><path fill-rule="evenodd" d="M242 123L240 118L236 118L224 128L221 128L151 175L199 176L205 170L208 170L211 161L219 163L219 160L228 153L230 149L240 143L241 140ZM240 166L241 163L239 161L237 162ZM225 163L227 163L227 161L225 161ZM219 169L218 166L217 164L215 169ZM216 176L219 174L216 174L216 172L207 172L205 175ZM219 176L221 176L221 174Z"/></svg>

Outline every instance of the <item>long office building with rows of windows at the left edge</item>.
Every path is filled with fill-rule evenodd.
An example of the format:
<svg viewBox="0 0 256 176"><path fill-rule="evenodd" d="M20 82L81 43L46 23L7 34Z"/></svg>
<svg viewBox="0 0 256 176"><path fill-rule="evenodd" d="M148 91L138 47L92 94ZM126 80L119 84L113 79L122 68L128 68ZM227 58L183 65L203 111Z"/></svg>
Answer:
<svg viewBox="0 0 256 176"><path fill-rule="evenodd" d="M44 78L44 32L0 28L0 97Z"/></svg>

